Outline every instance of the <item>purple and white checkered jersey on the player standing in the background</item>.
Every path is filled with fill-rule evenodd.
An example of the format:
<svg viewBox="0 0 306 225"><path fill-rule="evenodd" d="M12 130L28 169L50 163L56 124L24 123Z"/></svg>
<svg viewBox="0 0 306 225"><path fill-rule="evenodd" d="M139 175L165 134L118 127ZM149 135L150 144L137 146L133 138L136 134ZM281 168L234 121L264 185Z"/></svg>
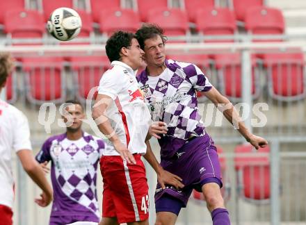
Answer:
<svg viewBox="0 0 306 225"><path fill-rule="evenodd" d="M42 145L36 160L51 160L51 216L88 215L92 222L99 222L97 166L104 149L103 140L88 133L79 140L68 140L63 133Z"/></svg>

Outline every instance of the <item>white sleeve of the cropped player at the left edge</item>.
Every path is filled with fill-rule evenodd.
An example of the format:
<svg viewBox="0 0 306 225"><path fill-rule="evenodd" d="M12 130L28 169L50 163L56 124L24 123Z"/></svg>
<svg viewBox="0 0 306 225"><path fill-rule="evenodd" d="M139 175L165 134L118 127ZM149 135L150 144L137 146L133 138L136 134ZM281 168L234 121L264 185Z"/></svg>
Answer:
<svg viewBox="0 0 306 225"><path fill-rule="evenodd" d="M18 110L16 111L15 122L15 130L13 131L13 149L16 152L22 149L32 150L28 119L26 119L26 116Z"/></svg>

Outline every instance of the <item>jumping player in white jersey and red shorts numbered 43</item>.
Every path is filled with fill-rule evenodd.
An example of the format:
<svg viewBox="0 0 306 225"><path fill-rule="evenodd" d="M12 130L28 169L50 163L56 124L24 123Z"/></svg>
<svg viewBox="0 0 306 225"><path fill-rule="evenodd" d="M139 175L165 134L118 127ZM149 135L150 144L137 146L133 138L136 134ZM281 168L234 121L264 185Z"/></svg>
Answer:
<svg viewBox="0 0 306 225"><path fill-rule="evenodd" d="M151 119L135 77L136 69L143 64L143 51L134 34L114 33L106 42L106 54L112 67L100 80L92 111L99 130L112 147L103 153L100 161L104 181L100 224L148 224L148 186L140 157L145 156L159 181L166 174L166 183L180 187L182 183L179 177L163 171L152 151L146 153L145 139ZM156 132L166 133L166 130Z"/></svg>

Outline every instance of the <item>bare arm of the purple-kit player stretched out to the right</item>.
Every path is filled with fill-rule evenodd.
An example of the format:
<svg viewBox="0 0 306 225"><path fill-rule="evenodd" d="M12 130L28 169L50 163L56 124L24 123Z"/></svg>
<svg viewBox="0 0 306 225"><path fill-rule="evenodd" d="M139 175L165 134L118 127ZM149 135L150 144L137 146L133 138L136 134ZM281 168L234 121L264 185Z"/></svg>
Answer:
<svg viewBox="0 0 306 225"><path fill-rule="evenodd" d="M229 99L220 94L214 87L204 92L204 94L209 100L215 103L218 110L223 112L225 118L238 129L239 133L243 135L243 138L245 138L247 142L250 142L256 149L259 149L259 147L266 147L268 142L264 138L253 135L248 131L248 128L245 127L239 113L237 113Z"/></svg>

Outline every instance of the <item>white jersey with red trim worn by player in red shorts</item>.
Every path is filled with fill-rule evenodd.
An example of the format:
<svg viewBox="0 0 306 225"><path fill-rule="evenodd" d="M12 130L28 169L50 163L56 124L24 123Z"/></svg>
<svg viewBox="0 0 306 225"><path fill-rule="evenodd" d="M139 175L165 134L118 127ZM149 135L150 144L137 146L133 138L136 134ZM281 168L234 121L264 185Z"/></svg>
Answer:
<svg viewBox="0 0 306 225"><path fill-rule="evenodd" d="M131 67L119 61L111 63L99 83L98 93L114 100L106 110L115 133L131 153L145 154L145 137L151 123L150 111ZM119 156L113 144L108 143L104 156Z"/></svg>

